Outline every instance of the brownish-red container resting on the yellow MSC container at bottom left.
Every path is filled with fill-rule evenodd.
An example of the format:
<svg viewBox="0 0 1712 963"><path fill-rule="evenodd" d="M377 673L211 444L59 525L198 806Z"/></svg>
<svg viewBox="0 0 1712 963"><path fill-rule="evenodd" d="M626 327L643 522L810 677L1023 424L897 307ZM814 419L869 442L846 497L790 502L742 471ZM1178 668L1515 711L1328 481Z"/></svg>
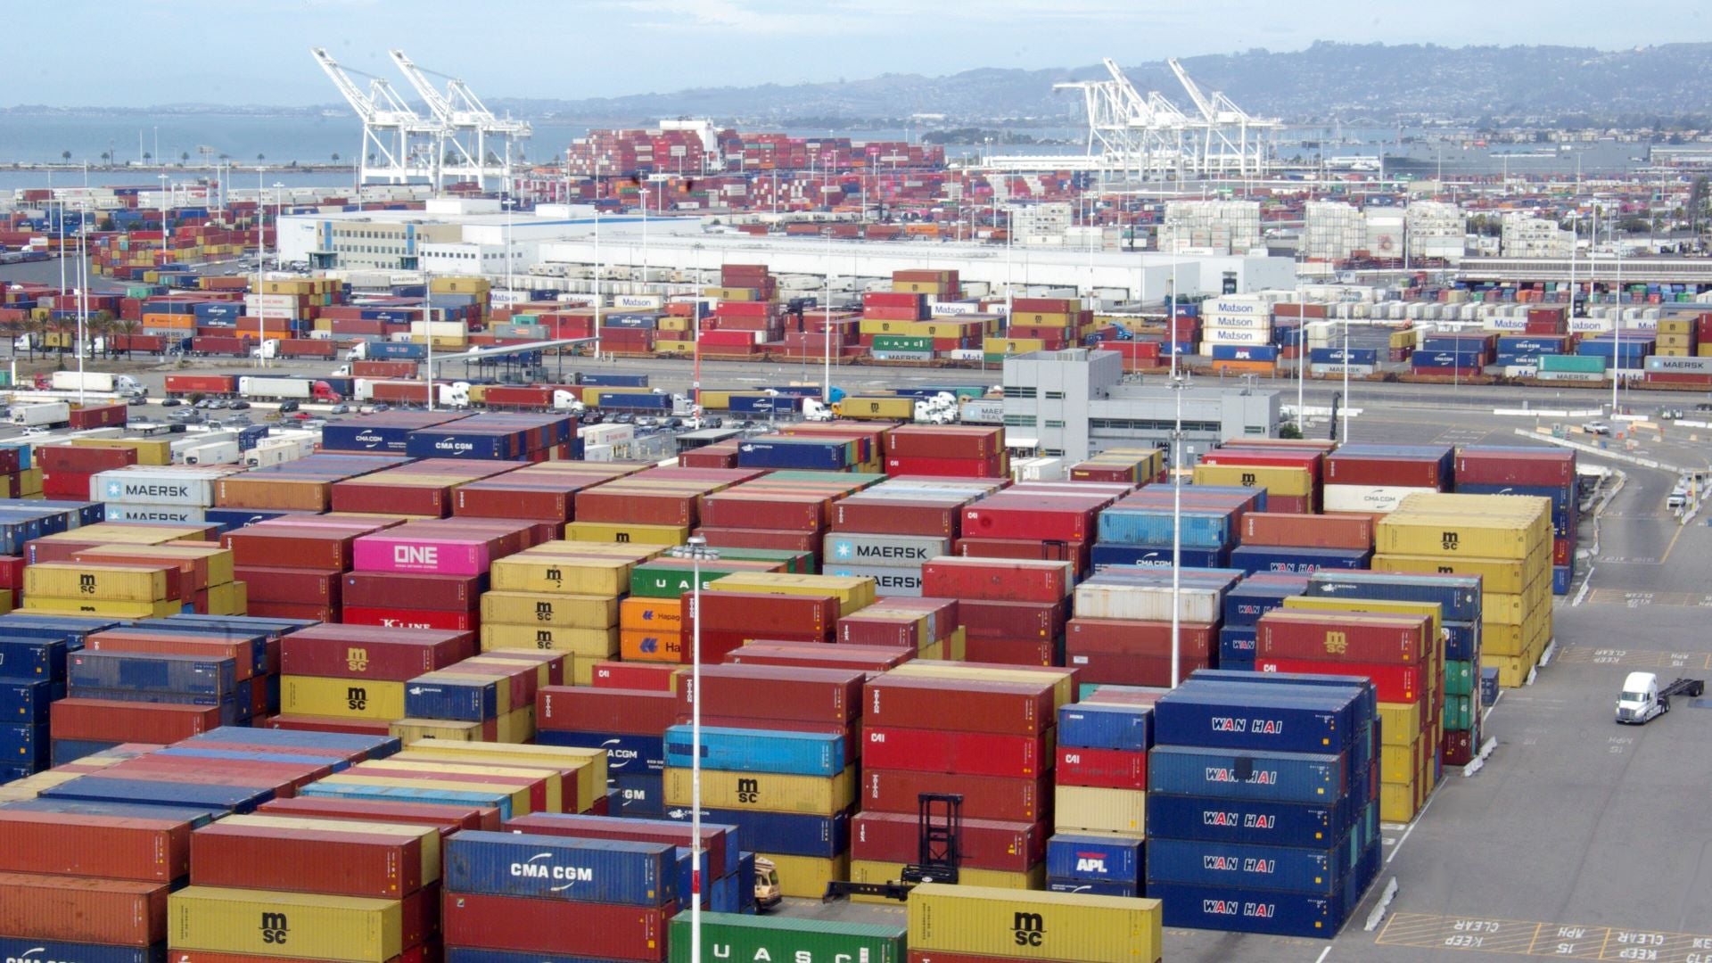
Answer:
<svg viewBox="0 0 1712 963"><path fill-rule="evenodd" d="M421 838L385 833L214 822L190 845L197 886L399 900L421 889Z"/></svg>

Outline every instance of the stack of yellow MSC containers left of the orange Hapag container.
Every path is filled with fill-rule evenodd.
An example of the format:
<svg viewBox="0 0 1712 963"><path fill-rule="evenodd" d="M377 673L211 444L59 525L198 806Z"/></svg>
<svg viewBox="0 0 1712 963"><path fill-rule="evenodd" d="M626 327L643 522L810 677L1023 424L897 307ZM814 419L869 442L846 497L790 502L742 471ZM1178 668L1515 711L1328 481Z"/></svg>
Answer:
<svg viewBox="0 0 1712 963"><path fill-rule="evenodd" d="M568 660L567 679L587 685L592 665L618 655L620 596L654 552L651 545L543 541L495 560L481 596L483 651L560 653Z"/></svg>

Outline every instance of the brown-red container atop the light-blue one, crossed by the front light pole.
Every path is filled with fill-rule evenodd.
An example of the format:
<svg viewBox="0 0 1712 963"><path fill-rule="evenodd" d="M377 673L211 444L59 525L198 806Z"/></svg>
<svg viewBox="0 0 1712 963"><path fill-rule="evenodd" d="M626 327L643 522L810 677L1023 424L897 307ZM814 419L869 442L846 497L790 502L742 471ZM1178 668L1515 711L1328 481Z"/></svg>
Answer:
<svg viewBox="0 0 1712 963"><path fill-rule="evenodd" d="M698 696L690 679L678 685L678 713L688 715L700 697L705 715L849 725L863 713L865 679L844 668L704 665Z"/></svg>

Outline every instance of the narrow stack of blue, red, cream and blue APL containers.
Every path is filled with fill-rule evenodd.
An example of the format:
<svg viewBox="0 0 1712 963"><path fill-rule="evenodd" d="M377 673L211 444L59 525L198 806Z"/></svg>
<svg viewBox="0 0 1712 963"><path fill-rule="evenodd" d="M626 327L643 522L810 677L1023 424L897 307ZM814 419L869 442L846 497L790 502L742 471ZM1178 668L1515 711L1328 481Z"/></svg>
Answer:
<svg viewBox="0 0 1712 963"><path fill-rule="evenodd" d="M1142 894L1154 699L1144 692L1120 696L1106 685L1091 701L1058 709L1048 889Z"/></svg>

